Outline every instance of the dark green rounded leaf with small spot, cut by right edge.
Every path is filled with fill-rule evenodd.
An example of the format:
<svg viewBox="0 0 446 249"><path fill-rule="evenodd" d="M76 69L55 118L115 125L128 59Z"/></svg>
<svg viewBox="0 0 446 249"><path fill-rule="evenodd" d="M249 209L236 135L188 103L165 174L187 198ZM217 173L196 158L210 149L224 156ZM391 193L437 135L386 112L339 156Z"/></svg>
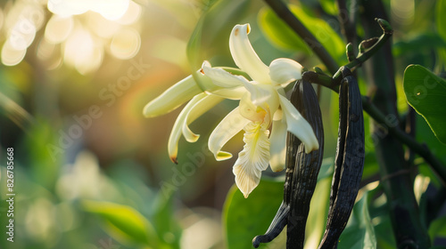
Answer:
<svg viewBox="0 0 446 249"><path fill-rule="evenodd" d="M403 87L410 106L425 117L437 139L446 143L446 81L422 66L410 65L404 71Z"/></svg>

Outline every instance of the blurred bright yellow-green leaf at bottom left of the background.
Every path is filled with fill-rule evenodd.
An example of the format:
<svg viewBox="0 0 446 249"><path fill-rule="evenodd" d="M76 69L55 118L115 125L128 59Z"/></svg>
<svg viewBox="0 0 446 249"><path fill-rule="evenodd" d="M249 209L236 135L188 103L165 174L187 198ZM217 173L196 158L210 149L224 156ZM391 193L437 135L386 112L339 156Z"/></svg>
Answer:
<svg viewBox="0 0 446 249"><path fill-rule="evenodd" d="M83 201L88 213L102 218L104 229L121 243L157 247L158 240L152 224L128 205L110 202Z"/></svg>

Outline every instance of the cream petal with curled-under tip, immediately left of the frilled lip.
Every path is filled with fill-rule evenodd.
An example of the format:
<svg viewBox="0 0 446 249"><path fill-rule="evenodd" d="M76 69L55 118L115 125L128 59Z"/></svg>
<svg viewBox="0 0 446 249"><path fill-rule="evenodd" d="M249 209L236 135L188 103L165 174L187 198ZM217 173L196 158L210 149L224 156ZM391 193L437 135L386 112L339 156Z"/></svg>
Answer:
<svg viewBox="0 0 446 249"><path fill-rule="evenodd" d="M233 138L237 133L240 133L244 126L250 121L240 115L239 108L233 109L211 133L209 137L208 146L214 154L217 161L226 160L232 157L231 153L221 151L223 146Z"/></svg>

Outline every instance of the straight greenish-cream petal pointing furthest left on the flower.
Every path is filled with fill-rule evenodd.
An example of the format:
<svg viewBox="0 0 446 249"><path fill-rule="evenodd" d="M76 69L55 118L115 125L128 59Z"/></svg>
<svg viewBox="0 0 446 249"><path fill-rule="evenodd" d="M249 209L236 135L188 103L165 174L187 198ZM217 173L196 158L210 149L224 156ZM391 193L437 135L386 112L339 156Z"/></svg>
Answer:
<svg viewBox="0 0 446 249"><path fill-rule="evenodd" d="M169 113L201 92L202 90L195 83L194 77L187 76L145 105L143 114L145 117L153 117Z"/></svg>

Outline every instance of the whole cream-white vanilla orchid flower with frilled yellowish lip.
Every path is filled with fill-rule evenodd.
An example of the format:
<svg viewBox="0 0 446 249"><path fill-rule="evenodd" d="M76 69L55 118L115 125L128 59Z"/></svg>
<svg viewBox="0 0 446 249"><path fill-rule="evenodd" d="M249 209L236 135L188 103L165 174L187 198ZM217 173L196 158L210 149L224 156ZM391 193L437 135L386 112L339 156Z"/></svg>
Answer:
<svg viewBox="0 0 446 249"><path fill-rule="evenodd" d="M188 124L221 100L240 100L239 106L211 133L208 146L217 160L228 159L232 155L221 149L235 134L244 130L244 149L238 154L233 168L235 183L244 197L257 187L261 172L268 165L275 172L285 168L287 131L304 143L307 153L318 149L318 140L310 124L285 98L284 87L301 78L301 65L283 58L265 65L252 48L249 32L249 24L236 25L229 38L229 48L237 67L252 80L235 76L223 68L212 68L204 61L202 69L194 76L169 88L144 110L145 116L157 116L192 98L170 133L169 156L176 162L181 134L190 142L199 136L192 133Z"/></svg>

